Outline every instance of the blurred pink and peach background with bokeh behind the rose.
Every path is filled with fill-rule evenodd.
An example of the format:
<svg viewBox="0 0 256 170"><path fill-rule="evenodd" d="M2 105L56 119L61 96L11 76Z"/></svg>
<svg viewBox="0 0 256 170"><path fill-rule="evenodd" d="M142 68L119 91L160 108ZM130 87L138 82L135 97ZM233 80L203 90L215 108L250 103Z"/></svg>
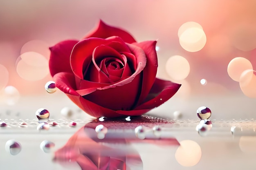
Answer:
<svg viewBox="0 0 256 170"><path fill-rule="evenodd" d="M42 107L55 117L65 106L77 110L62 92L45 91L49 47L80 40L101 19L138 42L157 40L157 77L182 84L149 114L197 119L197 108L207 106L212 119L252 119L255 9L255 0L1 0L0 114L32 119Z"/></svg>

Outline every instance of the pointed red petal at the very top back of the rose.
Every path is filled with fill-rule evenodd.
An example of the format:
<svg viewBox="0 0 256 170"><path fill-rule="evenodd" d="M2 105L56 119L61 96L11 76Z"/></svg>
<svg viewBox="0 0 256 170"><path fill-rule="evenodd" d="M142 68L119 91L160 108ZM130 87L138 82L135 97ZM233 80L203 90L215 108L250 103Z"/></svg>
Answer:
<svg viewBox="0 0 256 170"><path fill-rule="evenodd" d="M103 21L99 21L99 24L96 29L93 29L91 33L85 35L85 38L108 38L112 36L118 36L124 40L124 42L132 43L136 42L135 39L128 32L119 29L117 27L109 26L105 24Z"/></svg>

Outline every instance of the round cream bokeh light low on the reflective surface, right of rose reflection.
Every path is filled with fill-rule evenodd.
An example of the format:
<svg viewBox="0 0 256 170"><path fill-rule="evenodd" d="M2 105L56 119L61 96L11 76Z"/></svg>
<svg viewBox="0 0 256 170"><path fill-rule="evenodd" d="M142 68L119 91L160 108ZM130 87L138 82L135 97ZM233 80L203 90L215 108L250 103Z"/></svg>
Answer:
<svg viewBox="0 0 256 170"><path fill-rule="evenodd" d="M180 146L175 152L175 159L182 166L195 166L202 157L200 146L191 140L180 141Z"/></svg>

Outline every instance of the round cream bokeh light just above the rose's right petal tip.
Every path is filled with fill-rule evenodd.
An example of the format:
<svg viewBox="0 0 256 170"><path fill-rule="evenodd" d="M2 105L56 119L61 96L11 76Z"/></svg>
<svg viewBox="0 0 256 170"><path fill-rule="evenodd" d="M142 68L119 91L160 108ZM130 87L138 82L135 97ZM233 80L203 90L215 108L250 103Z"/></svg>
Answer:
<svg viewBox="0 0 256 170"><path fill-rule="evenodd" d="M171 56L166 62L166 72L174 80L185 79L190 72L188 60L180 55Z"/></svg>

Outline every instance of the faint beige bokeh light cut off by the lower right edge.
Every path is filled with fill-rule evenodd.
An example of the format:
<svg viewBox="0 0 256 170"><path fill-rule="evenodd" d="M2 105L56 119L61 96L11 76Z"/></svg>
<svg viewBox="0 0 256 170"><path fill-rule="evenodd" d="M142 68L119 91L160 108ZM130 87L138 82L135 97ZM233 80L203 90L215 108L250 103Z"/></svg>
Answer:
<svg viewBox="0 0 256 170"><path fill-rule="evenodd" d="M256 136L241 136L239 139L239 148L242 152L255 154Z"/></svg>

